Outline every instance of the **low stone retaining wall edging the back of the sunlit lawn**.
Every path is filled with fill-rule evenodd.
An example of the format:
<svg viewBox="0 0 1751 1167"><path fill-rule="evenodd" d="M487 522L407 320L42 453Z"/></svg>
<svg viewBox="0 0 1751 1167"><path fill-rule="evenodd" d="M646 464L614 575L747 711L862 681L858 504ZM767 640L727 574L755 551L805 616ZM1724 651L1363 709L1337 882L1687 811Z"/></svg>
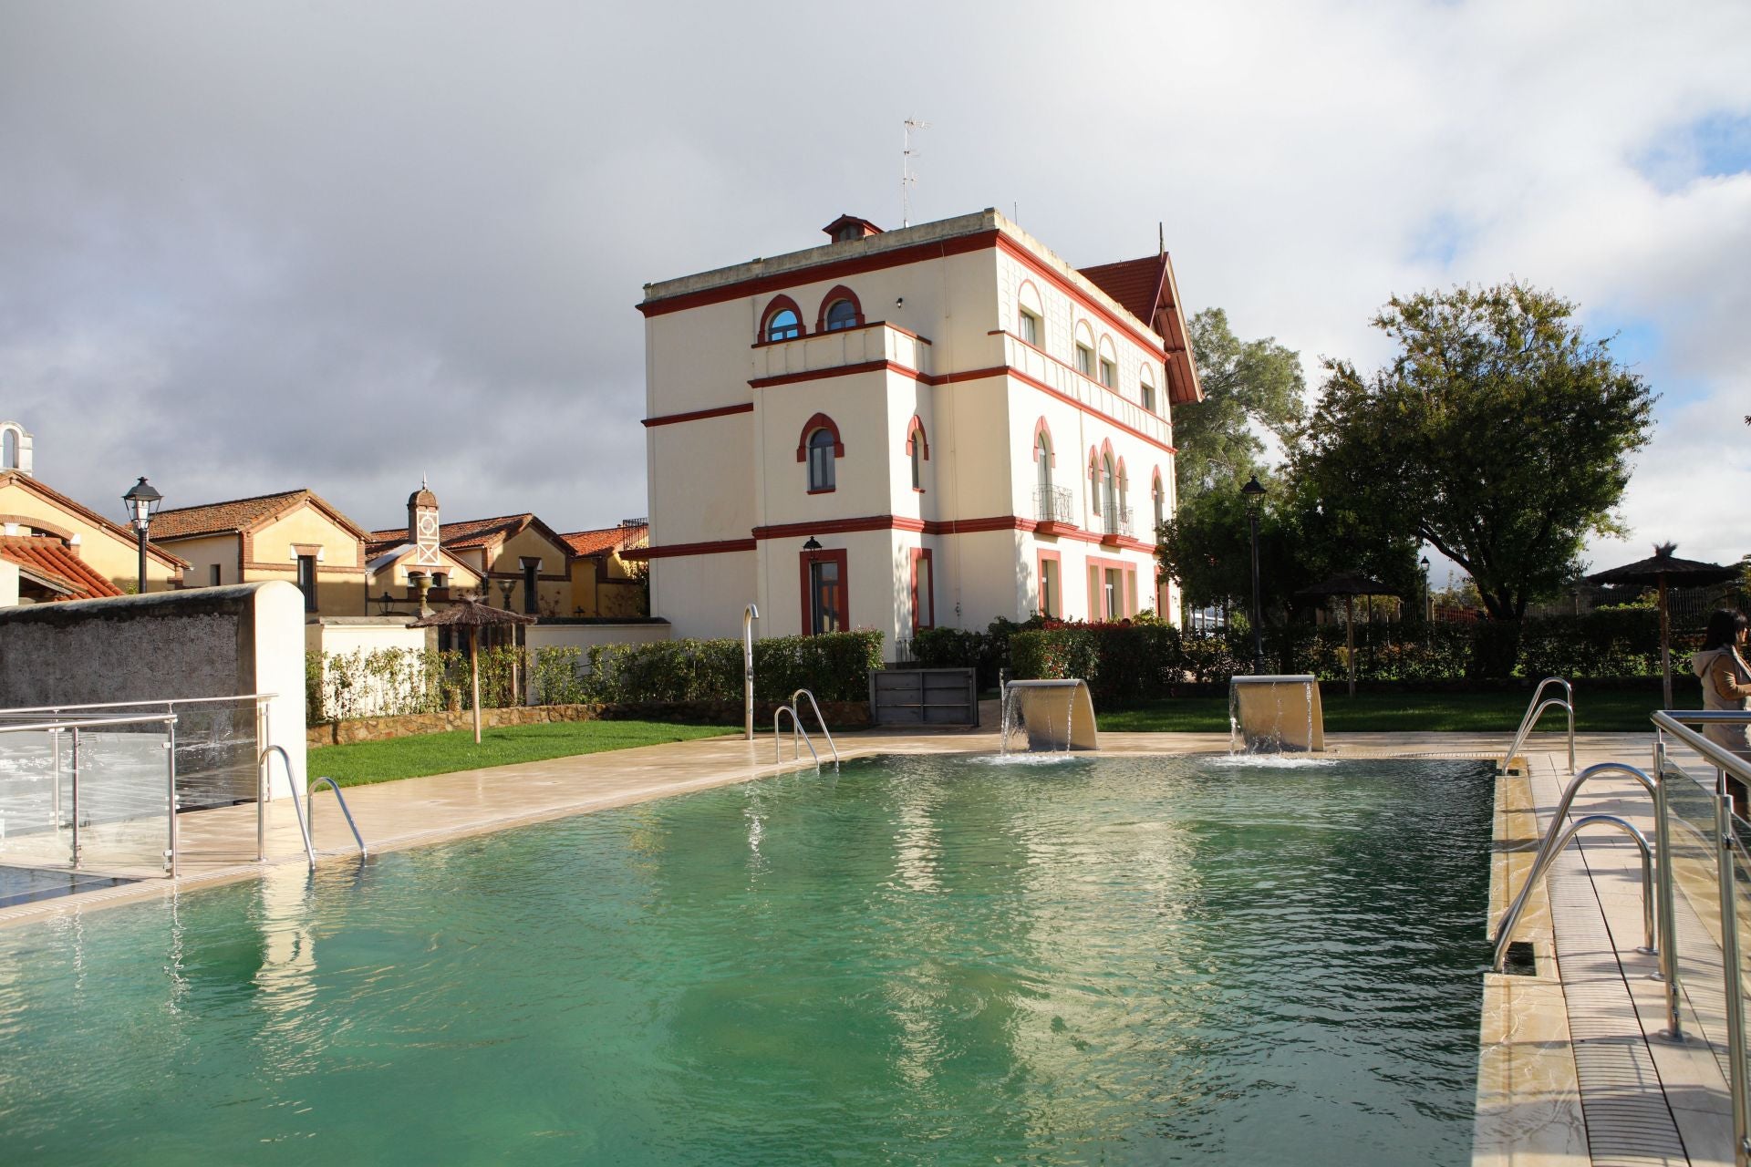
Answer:
<svg viewBox="0 0 1751 1167"><path fill-rule="evenodd" d="M755 730L770 731L777 705L755 705ZM821 716L830 730L863 730L870 723L870 709L863 702L821 702ZM707 724L742 724L742 707L737 702L646 702L625 705L513 705L510 709L480 710L482 728L531 726L546 721L704 721ZM814 721L805 714L804 726ZM306 731L310 747L350 745L354 742L385 742L415 733L445 733L469 730L473 714L466 709L441 714L406 714L401 717L357 717L354 721L322 721Z"/></svg>

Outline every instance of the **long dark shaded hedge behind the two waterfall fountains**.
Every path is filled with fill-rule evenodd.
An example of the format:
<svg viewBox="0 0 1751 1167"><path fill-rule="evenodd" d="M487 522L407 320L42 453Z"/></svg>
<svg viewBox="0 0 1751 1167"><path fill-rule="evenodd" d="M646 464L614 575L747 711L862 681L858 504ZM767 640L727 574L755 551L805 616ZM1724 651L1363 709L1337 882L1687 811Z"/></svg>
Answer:
<svg viewBox="0 0 1751 1167"><path fill-rule="evenodd" d="M1264 630L1271 672L1348 675L1341 625ZM1676 637L1672 667L1684 670L1693 637ZM1248 672L1245 632L1180 633L1159 623L1063 625L1009 639L1017 679L1082 677L1094 696L1126 703L1164 696L1180 684L1226 684ZM1536 677L1634 679L1660 675L1660 621L1644 609L1546 616L1520 623L1357 625L1359 681L1513 681Z"/></svg>

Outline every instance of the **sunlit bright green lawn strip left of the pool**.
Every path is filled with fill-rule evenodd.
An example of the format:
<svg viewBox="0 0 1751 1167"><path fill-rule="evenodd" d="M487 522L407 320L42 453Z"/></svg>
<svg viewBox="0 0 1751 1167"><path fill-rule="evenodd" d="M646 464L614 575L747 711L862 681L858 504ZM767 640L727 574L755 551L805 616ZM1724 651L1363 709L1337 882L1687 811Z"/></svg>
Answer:
<svg viewBox="0 0 1751 1167"><path fill-rule="evenodd" d="M312 779L331 777L341 786L366 786L417 779L425 773L454 773L480 766L508 766L517 761L545 761L573 754L599 754L632 745L692 742L693 738L741 733L739 726L706 726L671 721L557 721L532 726L503 726L480 731L420 733L387 742L322 745L310 751L305 768Z"/></svg>

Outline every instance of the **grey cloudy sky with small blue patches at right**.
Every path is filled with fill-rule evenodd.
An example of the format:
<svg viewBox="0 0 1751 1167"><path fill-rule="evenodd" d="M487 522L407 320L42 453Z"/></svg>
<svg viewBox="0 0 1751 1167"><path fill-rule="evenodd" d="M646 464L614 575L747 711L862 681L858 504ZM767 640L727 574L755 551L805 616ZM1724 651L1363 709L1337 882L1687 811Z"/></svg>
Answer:
<svg viewBox="0 0 1751 1167"><path fill-rule="evenodd" d="M1166 224L1192 310L1376 364L1516 276L1662 394L1625 546L1751 551L1751 5L0 0L0 418L119 516L644 514L641 285L840 212ZM1317 383L1317 381L1315 381ZM1481 436L1480 436L1481 439Z"/></svg>

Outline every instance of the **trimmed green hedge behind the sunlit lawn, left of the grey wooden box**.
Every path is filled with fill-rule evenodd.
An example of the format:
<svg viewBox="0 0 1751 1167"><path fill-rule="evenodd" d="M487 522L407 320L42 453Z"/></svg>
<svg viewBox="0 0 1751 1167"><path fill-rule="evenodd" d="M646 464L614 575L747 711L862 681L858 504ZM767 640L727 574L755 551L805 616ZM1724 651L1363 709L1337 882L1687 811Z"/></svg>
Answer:
<svg viewBox="0 0 1751 1167"><path fill-rule="evenodd" d="M881 668L881 633L755 640L755 700L788 702L811 689L819 702L867 702L868 670ZM588 702L735 702L742 696L742 642L658 640L590 649L581 681Z"/></svg>

